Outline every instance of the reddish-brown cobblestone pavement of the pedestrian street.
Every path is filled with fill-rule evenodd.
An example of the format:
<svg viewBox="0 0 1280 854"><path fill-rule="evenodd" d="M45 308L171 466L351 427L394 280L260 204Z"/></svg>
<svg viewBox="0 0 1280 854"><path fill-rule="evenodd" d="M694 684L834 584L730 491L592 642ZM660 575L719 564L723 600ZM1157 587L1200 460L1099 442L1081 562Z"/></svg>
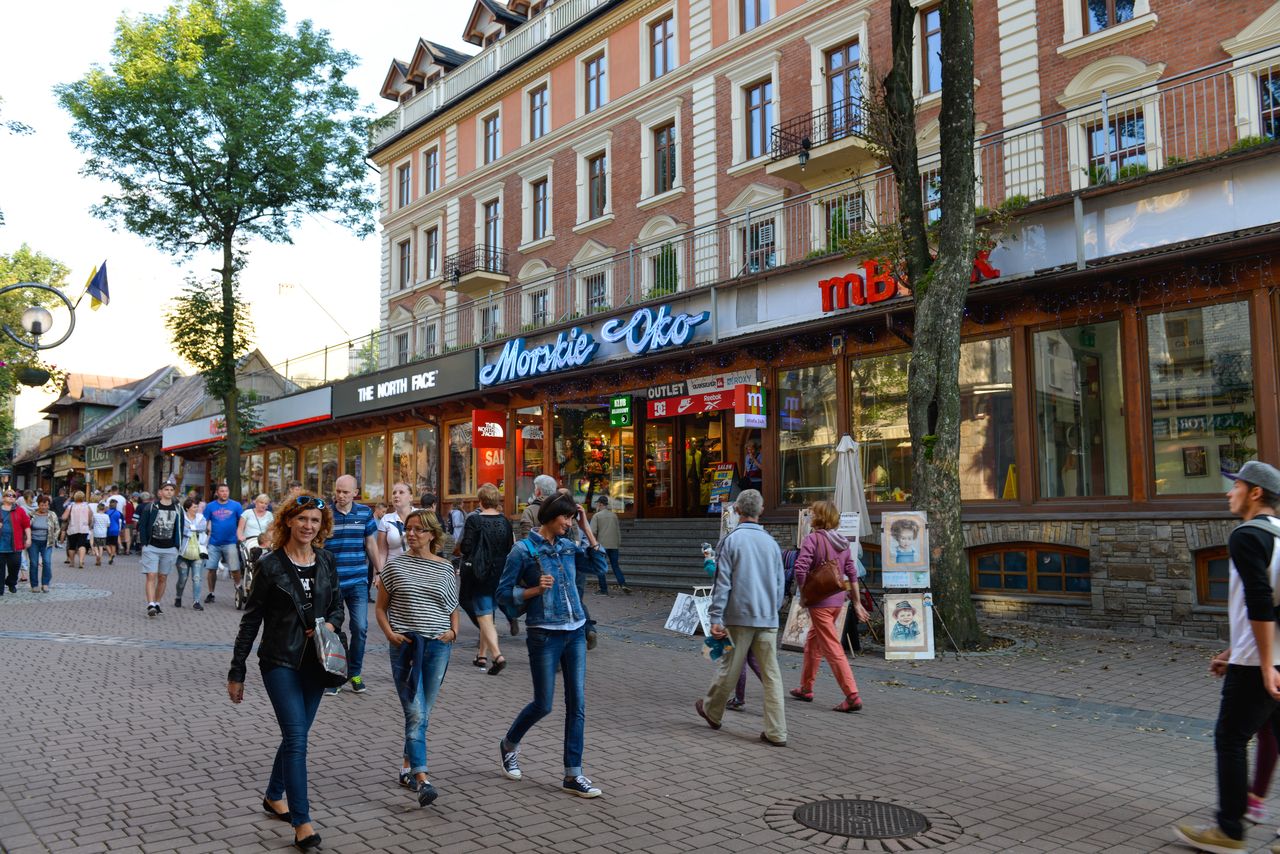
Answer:
<svg viewBox="0 0 1280 854"><path fill-rule="evenodd" d="M256 668L225 697L238 612L230 585L204 613L145 616L134 558L72 570L55 589L0 598L9 737L0 746L5 851L255 851L289 848L259 800L279 740ZM470 666L465 624L428 737L434 807L394 782L403 737L385 643L370 690L326 699L311 735L312 814L328 851L913 850L801 831L800 802L882 799L924 812L945 851L1176 851L1169 826L1208 821L1215 796L1213 645L993 626L1005 654L933 662L854 659L867 703L824 671L812 704L787 700L790 745L758 741L760 688L713 732L694 713L712 667L700 639L663 630L671 595L589 604L586 773L596 800L563 795L563 707L525 740L506 780L497 741L530 698L524 638L511 666ZM374 630L375 634L376 629ZM781 653L788 686L800 656ZM954 822L954 823L952 823ZM955 832L952 832L952 830ZM1265 850L1271 826L1249 841ZM945 832L942 832L945 831Z"/></svg>

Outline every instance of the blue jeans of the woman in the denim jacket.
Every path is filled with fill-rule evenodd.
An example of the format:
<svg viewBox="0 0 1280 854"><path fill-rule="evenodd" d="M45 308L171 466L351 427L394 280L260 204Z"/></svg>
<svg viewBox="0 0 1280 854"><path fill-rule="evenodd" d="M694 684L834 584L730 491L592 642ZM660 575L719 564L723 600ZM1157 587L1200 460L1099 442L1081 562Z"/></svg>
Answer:
<svg viewBox="0 0 1280 854"><path fill-rule="evenodd" d="M532 626L525 635L529 670L534 677L534 702L520 711L507 730L507 745L552 712L556 670L564 673L564 776L582 773L582 732L586 729L586 631L547 631Z"/></svg>

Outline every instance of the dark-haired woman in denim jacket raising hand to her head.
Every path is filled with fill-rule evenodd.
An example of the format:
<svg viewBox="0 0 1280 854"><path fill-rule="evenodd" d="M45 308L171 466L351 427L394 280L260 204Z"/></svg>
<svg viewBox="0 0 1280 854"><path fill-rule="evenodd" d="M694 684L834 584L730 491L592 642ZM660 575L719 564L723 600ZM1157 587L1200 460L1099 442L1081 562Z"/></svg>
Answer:
<svg viewBox="0 0 1280 854"><path fill-rule="evenodd" d="M575 522L588 548L566 534ZM564 671L564 791L598 798L600 790L582 776L582 732L586 727L586 613L577 595L579 572L600 575L608 566L586 513L568 495L556 495L538 508L539 528L516 543L498 581L498 600L527 608L525 643L534 677L534 699L516 716L502 740L502 772L520 780L520 740L552 711L556 671Z"/></svg>

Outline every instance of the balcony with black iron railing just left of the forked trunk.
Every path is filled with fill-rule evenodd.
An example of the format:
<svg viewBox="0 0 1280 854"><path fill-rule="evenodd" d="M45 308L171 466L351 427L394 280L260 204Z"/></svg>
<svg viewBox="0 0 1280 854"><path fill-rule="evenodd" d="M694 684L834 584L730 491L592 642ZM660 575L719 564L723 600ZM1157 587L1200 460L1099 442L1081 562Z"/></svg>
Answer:
<svg viewBox="0 0 1280 854"><path fill-rule="evenodd" d="M879 166L867 138L861 101L828 104L781 122L771 140L772 163L764 170L805 187L822 187Z"/></svg>

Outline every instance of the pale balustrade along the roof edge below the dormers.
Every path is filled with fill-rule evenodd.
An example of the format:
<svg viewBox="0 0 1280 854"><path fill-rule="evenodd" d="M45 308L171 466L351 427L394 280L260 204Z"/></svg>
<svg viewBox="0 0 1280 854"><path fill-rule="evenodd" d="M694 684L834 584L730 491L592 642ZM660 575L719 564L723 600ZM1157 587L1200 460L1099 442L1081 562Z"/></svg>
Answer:
<svg viewBox="0 0 1280 854"><path fill-rule="evenodd" d="M521 61L531 51L564 32L602 6L622 0L558 0L479 54L462 63L440 81L374 122L369 131L370 147L378 147L420 119L443 109L498 70Z"/></svg>

